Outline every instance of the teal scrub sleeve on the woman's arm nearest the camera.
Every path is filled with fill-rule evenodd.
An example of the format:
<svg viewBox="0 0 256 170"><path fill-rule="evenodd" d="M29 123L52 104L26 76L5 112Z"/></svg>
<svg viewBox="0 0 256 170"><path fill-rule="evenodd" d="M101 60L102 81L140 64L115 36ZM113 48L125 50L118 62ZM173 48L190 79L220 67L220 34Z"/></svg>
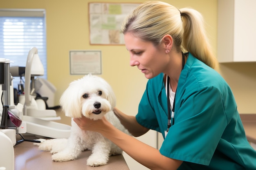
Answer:
<svg viewBox="0 0 256 170"><path fill-rule="evenodd" d="M209 165L227 126L222 94L218 88L204 86L184 93L176 104L175 124L164 139L161 154Z"/></svg>

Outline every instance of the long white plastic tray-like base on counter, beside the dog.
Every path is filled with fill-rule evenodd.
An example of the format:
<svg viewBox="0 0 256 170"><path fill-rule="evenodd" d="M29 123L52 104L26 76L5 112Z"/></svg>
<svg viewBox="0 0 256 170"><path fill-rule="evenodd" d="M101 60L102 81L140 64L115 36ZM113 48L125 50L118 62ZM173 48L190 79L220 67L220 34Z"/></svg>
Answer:
<svg viewBox="0 0 256 170"><path fill-rule="evenodd" d="M71 126L25 115L22 121L26 122L28 133L57 139L70 137Z"/></svg>

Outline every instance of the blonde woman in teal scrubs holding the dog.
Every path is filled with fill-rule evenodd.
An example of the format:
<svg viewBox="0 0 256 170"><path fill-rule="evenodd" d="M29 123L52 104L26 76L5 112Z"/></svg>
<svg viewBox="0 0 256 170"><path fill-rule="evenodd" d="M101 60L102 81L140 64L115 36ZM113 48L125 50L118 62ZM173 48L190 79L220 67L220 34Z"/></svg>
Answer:
<svg viewBox="0 0 256 170"><path fill-rule="evenodd" d="M100 132L153 170L256 170L256 151L245 137L232 91L213 69L218 62L200 13L145 2L121 29L130 65L149 80L137 115L117 108L115 114L136 137L149 129L161 132L162 147L152 148L106 119L74 119L79 127Z"/></svg>

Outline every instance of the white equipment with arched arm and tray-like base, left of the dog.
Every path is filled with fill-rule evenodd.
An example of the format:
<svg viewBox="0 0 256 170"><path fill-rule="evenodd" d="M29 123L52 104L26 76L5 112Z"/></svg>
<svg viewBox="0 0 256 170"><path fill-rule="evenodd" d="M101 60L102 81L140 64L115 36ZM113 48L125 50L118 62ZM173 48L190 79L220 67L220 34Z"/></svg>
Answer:
<svg viewBox="0 0 256 170"><path fill-rule="evenodd" d="M45 119L47 117L56 117L56 111L38 109L38 102L36 102L31 95L34 91L34 76L43 75L43 72L43 65L40 62L38 50L36 47L33 47L27 56L25 68L25 94L20 97L20 101L24 101L25 99L22 121L26 122L28 133L43 137L68 138L70 136L71 126ZM31 91L30 86L32 87Z"/></svg>

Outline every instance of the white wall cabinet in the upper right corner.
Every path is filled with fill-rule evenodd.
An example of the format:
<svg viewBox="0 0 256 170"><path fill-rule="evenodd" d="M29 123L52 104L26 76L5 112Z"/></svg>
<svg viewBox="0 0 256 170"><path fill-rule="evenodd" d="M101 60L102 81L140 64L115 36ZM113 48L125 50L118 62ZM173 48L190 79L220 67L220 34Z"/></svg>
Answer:
<svg viewBox="0 0 256 170"><path fill-rule="evenodd" d="M218 0L217 57L223 62L256 62L256 0Z"/></svg>

